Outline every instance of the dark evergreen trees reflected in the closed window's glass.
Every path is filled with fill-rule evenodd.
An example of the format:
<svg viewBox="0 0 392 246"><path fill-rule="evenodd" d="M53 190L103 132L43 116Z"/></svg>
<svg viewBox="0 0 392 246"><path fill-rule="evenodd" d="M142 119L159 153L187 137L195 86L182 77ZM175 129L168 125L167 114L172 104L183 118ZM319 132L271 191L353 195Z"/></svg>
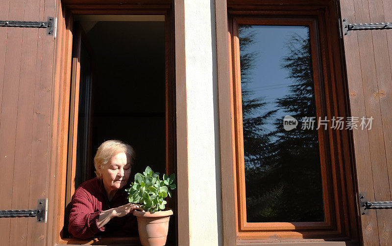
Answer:
<svg viewBox="0 0 392 246"><path fill-rule="evenodd" d="M316 116L309 34L294 34L286 43L282 69L293 82L290 93L274 102L274 110L257 116L268 107L246 89L257 56L246 53L254 42L251 26L240 27L239 33L247 221L324 221L318 133L300 127L286 131L276 117L277 110L298 120ZM273 131L263 127L268 120L274 121Z"/></svg>

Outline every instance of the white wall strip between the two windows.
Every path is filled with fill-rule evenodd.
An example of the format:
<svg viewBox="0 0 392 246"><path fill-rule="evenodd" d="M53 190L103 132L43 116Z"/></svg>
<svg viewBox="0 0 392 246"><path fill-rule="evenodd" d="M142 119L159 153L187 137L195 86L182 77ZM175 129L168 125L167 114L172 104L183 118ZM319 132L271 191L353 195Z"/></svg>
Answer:
<svg viewBox="0 0 392 246"><path fill-rule="evenodd" d="M214 0L185 0L191 246L221 245L221 172Z"/></svg>

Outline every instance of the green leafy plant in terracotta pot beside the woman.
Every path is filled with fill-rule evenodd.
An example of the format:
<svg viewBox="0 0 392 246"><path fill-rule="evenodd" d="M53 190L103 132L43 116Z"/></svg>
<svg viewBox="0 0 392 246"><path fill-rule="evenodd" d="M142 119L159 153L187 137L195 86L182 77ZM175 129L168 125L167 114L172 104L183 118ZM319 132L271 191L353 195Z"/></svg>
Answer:
<svg viewBox="0 0 392 246"><path fill-rule="evenodd" d="M135 174L135 182L128 191L130 203L139 203L145 212L135 210L133 215L138 219L140 242L143 246L164 246L168 236L169 219L172 209L165 208L166 197L172 197L175 189L174 173L164 174L162 180L159 173L153 172L149 166L141 173Z"/></svg>

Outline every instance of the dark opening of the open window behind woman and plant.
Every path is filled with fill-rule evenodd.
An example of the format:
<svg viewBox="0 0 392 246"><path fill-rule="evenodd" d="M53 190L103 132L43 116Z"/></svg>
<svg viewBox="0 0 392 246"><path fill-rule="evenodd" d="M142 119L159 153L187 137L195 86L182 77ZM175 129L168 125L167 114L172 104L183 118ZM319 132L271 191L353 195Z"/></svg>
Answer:
<svg viewBox="0 0 392 246"><path fill-rule="evenodd" d="M135 149L131 177L149 165L175 172L172 33L168 15L74 15L70 84L67 186L62 243L70 238L68 213L75 189L96 176L93 163L105 140L122 140ZM168 206L175 208L173 194ZM168 244L175 242L175 215ZM91 242L95 242L93 240ZM61 243L60 242L60 243ZM90 242L90 243L91 243ZM139 243L126 235L102 244Z"/></svg>

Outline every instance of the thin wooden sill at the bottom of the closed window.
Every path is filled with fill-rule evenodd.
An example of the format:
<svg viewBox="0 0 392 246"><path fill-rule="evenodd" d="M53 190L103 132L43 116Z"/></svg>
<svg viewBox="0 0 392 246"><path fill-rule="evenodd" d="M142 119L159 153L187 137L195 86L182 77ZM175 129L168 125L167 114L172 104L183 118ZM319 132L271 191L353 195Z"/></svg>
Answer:
<svg viewBox="0 0 392 246"><path fill-rule="evenodd" d="M276 245L285 245L285 246L358 246L359 243L357 241L324 241L322 239L261 239L261 240L237 240L237 246L276 246Z"/></svg>

